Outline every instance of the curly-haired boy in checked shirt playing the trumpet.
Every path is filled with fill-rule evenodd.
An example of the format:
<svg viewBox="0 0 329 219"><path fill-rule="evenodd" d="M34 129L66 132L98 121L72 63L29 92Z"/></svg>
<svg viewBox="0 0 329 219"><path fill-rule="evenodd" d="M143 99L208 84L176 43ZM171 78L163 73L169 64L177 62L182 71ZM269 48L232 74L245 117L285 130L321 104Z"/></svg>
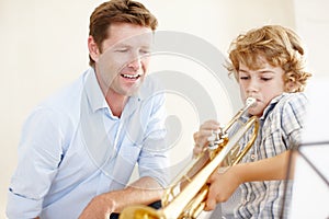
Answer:
<svg viewBox="0 0 329 219"><path fill-rule="evenodd" d="M227 200L240 185L241 199L235 209L235 218L281 218L284 198L291 195L292 186L288 183L285 194L285 181L282 181L285 151L300 142L307 104L302 91L310 73L305 72L303 58L298 36L280 25L251 30L232 42L227 69L239 83L242 101L250 96L257 100L256 106L249 108L242 119L258 116L260 129L241 164L223 174L216 171L209 177L206 210ZM200 147L194 148L194 153L200 153L212 131L218 128L215 120L200 127L194 134L195 146ZM241 146L243 142L248 142L248 135ZM287 217L286 210L284 214Z"/></svg>

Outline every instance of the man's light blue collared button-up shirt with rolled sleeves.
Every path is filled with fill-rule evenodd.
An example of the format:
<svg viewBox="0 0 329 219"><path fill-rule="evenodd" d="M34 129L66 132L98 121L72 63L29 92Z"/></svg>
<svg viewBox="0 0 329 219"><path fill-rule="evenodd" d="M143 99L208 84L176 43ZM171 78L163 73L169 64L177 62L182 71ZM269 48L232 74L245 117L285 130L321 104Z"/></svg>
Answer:
<svg viewBox="0 0 329 219"><path fill-rule="evenodd" d="M97 195L139 176L166 186L163 92L146 79L122 116L113 116L90 68L38 105L25 122L9 188L9 218L72 218Z"/></svg>

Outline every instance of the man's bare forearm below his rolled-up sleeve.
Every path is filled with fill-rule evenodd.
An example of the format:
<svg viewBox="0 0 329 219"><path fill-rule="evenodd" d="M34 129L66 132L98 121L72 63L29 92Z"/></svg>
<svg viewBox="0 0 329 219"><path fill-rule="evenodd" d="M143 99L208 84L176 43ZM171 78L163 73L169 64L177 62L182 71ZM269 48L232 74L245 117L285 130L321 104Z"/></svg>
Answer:
<svg viewBox="0 0 329 219"><path fill-rule="evenodd" d="M94 197L79 219L104 219L112 212L121 212L129 205L149 205L161 199L163 188L151 177L141 177L122 191L113 191Z"/></svg>

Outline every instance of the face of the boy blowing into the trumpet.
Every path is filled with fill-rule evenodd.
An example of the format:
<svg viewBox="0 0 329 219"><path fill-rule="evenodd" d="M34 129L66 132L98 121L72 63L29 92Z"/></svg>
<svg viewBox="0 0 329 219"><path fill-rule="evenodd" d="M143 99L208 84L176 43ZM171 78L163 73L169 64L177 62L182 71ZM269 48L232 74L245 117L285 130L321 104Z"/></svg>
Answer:
<svg viewBox="0 0 329 219"><path fill-rule="evenodd" d="M242 101L245 102L250 96L257 100L257 105L249 108L248 113L258 117L262 116L272 99L284 92L284 70L281 67L271 66L262 57L259 58L263 62L260 69L251 70L240 62L238 71Z"/></svg>

